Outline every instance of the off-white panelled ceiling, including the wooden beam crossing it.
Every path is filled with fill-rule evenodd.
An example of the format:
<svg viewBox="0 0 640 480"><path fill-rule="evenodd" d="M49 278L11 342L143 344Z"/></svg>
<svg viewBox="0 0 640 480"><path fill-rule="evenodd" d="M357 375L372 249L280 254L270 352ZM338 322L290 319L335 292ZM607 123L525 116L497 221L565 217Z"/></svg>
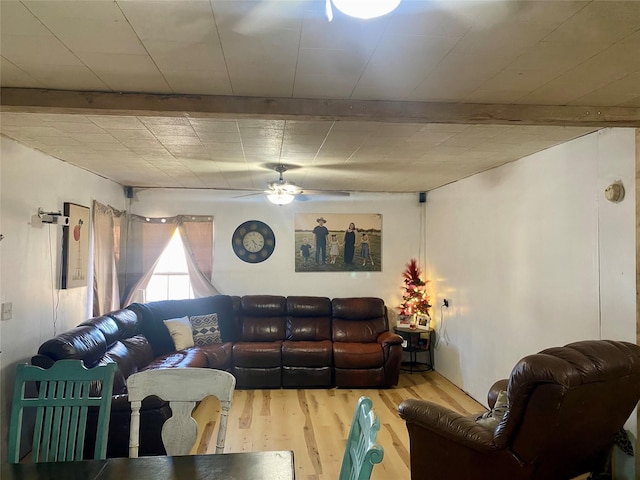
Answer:
<svg viewBox="0 0 640 480"><path fill-rule="evenodd" d="M309 189L426 191L640 126L639 1L403 0L328 22L324 0L1 0L0 15L2 135L122 185L262 190L283 162Z"/></svg>

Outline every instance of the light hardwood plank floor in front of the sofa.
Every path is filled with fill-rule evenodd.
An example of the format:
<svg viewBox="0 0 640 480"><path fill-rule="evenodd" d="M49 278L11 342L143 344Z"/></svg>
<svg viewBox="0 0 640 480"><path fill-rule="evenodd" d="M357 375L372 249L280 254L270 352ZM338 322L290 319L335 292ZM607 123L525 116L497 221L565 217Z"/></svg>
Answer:
<svg viewBox="0 0 640 480"><path fill-rule="evenodd" d="M371 398L380 417L378 443L384 459L374 467L373 480L410 479L409 437L397 411L402 400L422 398L469 415L485 410L437 372L403 373L397 387L385 390L236 390L225 452L293 450L297 480L335 480L361 395ZM209 419L218 416L215 399L196 409L202 435L192 453L215 451L217 422Z"/></svg>

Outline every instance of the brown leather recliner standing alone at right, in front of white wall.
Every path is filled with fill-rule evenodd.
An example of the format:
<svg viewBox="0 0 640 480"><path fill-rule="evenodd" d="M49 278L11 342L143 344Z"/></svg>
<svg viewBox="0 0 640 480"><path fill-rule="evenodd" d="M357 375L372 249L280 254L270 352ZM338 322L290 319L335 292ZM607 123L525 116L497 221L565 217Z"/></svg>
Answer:
<svg viewBox="0 0 640 480"><path fill-rule="evenodd" d="M640 346L575 342L529 355L508 380L508 410L494 429L435 403L399 406L412 480L565 480L605 471L614 436L640 400Z"/></svg>

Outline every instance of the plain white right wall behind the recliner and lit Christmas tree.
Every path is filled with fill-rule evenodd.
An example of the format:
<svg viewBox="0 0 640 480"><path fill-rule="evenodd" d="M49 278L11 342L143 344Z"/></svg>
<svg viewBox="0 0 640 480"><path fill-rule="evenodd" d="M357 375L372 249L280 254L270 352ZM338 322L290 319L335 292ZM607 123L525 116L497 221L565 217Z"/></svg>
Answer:
<svg viewBox="0 0 640 480"><path fill-rule="evenodd" d="M436 368L478 401L529 353L635 343L635 148L607 129L429 192Z"/></svg>

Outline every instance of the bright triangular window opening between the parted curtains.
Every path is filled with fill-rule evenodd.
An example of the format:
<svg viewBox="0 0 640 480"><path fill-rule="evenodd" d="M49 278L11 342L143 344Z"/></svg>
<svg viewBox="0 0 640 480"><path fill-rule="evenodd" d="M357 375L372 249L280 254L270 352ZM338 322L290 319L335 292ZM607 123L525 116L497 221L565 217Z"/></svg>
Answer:
<svg viewBox="0 0 640 480"><path fill-rule="evenodd" d="M144 291L146 302L193 298L187 259L178 229L158 259L153 275Z"/></svg>

